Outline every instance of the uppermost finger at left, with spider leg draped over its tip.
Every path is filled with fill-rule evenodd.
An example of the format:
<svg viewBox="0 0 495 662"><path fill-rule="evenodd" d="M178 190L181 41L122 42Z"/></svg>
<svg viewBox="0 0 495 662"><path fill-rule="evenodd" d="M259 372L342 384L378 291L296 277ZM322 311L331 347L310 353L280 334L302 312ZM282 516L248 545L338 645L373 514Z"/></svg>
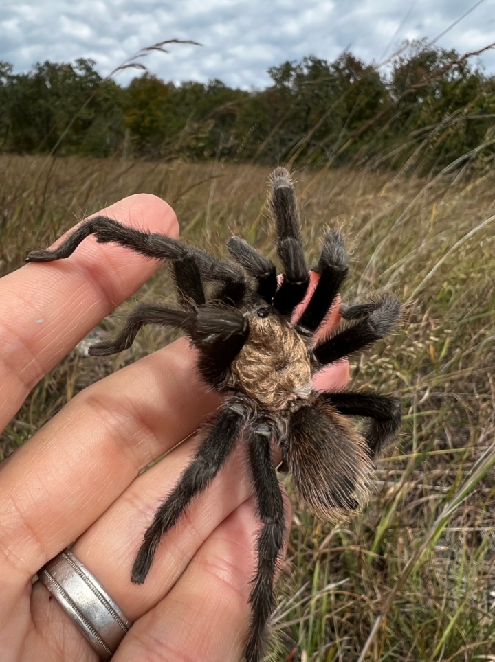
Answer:
<svg viewBox="0 0 495 662"><path fill-rule="evenodd" d="M157 196L129 196L100 214L139 229L179 234L173 209ZM69 260L27 264L0 280L0 429L30 389L159 265L91 237Z"/></svg>

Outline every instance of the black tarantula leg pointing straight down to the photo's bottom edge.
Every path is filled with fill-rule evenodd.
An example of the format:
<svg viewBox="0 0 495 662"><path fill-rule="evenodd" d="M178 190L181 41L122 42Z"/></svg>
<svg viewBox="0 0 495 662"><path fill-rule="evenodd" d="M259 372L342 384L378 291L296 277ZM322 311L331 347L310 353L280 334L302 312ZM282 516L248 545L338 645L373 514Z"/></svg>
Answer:
<svg viewBox="0 0 495 662"><path fill-rule="evenodd" d="M254 493L263 529L257 542L258 567L250 595L252 617L247 662L259 662L263 657L265 630L275 608L275 573L285 532L282 493L270 450L272 435L270 426L262 422L250 431L248 440Z"/></svg>

